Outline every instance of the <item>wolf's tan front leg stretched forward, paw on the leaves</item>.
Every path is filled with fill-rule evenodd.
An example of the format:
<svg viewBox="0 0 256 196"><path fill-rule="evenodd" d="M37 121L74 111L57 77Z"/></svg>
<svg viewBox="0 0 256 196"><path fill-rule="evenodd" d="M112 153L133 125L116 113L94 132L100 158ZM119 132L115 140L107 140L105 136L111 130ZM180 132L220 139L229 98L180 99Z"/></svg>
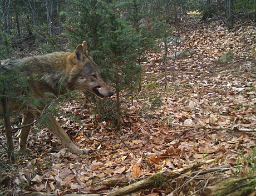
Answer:
<svg viewBox="0 0 256 196"><path fill-rule="evenodd" d="M70 139L65 130L58 124L55 118L52 115L47 115L44 120L46 127L53 133L55 136L61 140L61 143L68 148L72 153L75 154L88 154L90 149L80 149L78 148Z"/></svg>

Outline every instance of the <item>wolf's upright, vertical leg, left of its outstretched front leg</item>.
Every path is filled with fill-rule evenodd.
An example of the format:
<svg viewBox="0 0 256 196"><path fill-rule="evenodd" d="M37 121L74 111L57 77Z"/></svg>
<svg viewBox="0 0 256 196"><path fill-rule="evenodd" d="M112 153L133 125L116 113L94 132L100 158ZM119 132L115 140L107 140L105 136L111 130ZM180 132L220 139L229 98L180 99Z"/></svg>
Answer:
<svg viewBox="0 0 256 196"><path fill-rule="evenodd" d="M27 113L23 114L22 125L32 123L33 120L34 120L33 114L30 112L27 112ZM22 128L19 131L19 134L18 134L18 138L19 138L18 152L19 153L26 153L26 152L31 151L30 149L26 148L26 142L27 142L27 137L28 137L30 128L31 128L31 126L27 126L27 127Z"/></svg>

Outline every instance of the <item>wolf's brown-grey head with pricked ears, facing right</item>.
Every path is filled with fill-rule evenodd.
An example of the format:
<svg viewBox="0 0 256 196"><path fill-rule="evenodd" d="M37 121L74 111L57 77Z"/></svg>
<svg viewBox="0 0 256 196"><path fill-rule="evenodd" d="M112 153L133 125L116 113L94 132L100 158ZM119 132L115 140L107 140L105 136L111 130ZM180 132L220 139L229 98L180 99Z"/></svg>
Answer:
<svg viewBox="0 0 256 196"><path fill-rule="evenodd" d="M73 69L68 78L68 87L79 91L90 91L97 97L111 97L114 92L102 81L100 71L88 55L87 43L83 41L71 54Z"/></svg>

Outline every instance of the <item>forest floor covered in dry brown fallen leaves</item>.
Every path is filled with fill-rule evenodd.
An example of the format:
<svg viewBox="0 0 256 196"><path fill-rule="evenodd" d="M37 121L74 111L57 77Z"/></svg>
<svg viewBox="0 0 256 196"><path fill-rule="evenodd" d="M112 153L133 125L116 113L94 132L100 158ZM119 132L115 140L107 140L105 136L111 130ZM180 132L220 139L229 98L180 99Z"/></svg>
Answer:
<svg viewBox="0 0 256 196"><path fill-rule="evenodd" d="M82 124L60 117L62 127L79 147L97 150L90 155L71 154L45 128L35 128L28 137L31 154L18 157L14 165L2 156L0 195L56 193L57 189L56 195L110 193L125 186L104 183L112 178L132 183L156 172L209 159L215 161L201 169L225 164L230 169L204 178L183 179L182 183L172 179L168 186L135 194L201 195L216 177L254 174L255 133L246 130L256 129L256 64L250 53L256 28L239 24L230 31L218 20L198 22L185 20L174 32L184 42L177 46L170 42L169 54L185 48L197 53L168 60L166 89L163 54L159 51L147 55L141 93L134 96L133 105L129 96L122 96L126 104L118 133L110 122L92 113L89 103L66 103L62 112L75 114ZM228 50L232 50L235 60L218 63ZM1 128L2 144L4 138ZM15 144L17 148L17 138Z"/></svg>

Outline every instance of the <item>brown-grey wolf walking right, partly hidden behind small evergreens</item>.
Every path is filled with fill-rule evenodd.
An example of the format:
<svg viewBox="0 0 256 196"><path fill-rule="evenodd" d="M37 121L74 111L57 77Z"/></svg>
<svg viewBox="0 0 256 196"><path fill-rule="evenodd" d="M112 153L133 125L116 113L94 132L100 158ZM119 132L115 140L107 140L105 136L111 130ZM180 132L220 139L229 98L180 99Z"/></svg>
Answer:
<svg viewBox="0 0 256 196"><path fill-rule="evenodd" d="M114 92L102 81L100 71L87 51L87 42L83 41L73 52L54 52L43 56L26 57L18 60L3 60L2 70L9 67L21 67L24 77L34 78L29 80L29 94L38 99L47 99L47 93L60 94L60 83L63 89L89 91L100 98L111 97ZM35 77L36 76L36 77ZM36 78L36 79L35 79ZM26 96L26 94L24 95ZM12 113L22 113L23 128L18 134L18 152L30 151L26 148L26 141L34 120L40 117L44 107L35 109L29 104L21 107L20 103L9 103ZM0 106L0 112L2 108ZM61 143L70 152L75 154L88 154L89 149L78 148L51 114L43 120L47 129L60 139ZM27 125L27 126L26 126Z"/></svg>

